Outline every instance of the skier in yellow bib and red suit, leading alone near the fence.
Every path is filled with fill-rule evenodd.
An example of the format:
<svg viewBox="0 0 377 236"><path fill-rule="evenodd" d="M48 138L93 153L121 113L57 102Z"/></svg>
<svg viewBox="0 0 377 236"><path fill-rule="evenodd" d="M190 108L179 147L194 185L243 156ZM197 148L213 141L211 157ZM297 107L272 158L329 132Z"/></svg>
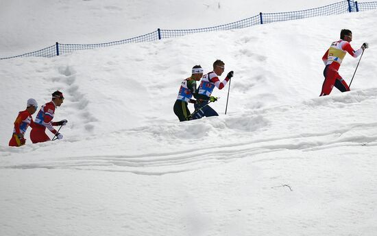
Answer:
<svg viewBox="0 0 377 236"><path fill-rule="evenodd" d="M330 48L322 57L322 60L324 61L326 67L324 69L325 80L324 84L322 85L321 95L319 96L329 95L334 86L335 88L338 88L342 93L350 91L350 87L338 73L341 62L343 61L343 58L347 52L354 58L357 58L363 53L365 49L368 48L368 44L363 43L360 49L354 51L354 49L352 49L350 45L351 41L352 32L350 31L350 29L342 29L341 39L332 43Z"/></svg>

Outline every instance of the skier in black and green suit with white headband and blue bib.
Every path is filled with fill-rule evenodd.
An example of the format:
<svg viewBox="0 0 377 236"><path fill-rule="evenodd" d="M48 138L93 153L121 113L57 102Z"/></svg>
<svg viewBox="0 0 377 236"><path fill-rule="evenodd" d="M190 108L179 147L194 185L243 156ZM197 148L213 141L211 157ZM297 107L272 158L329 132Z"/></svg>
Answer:
<svg viewBox="0 0 377 236"><path fill-rule="evenodd" d="M193 67L191 71L191 77L183 80L180 86L180 91L178 92L177 100L173 107L175 115L180 119L180 121L188 121L191 118L191 113L187 104L195 104L197 100L191 99L191 97L197 96L196 94L196 82L200 80L203 76L203 69L200 65Z"/></svg>

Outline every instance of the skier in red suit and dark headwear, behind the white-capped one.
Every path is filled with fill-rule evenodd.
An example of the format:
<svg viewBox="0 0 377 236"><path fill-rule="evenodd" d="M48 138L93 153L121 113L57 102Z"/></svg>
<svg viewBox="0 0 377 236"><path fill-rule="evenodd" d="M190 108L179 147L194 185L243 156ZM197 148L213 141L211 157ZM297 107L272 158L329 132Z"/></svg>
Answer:
<svg viewBox="0 0 377 236"><path fill-rule="evenodd" d="M55 108L57 106L61 106L63 100L63 93L60 91L55 91L52 93L51 102L47 102L47 104L40 108L38 114L36 115L35 126L32 127L32 131L30 132L30 139L32 139L33 143L40 143L50 140L45 133L46 128L55 134L58 139L63 138L63 135L56 131L52 126L65 126L67 122L66 119L62 119L58 122L51 122L55 113Z"/></svg>

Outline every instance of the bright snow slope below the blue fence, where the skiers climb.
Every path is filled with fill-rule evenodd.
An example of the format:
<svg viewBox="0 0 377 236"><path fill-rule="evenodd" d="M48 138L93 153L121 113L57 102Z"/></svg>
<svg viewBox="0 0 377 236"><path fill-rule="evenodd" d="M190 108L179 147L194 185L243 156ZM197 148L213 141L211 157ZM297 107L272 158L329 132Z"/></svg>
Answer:
<svg viewBox="0 0 377 236"><path fill-rule="evenodd" d="M0 235L374 235L376 20L358 12L1 60ZM370 48L351 92L318 97L321 56L343 28ZM227 85L214 93L219 117L179 123L180 82L217 58L234 70L228 114ZM343 61L348 83L357 62ZM64 139L8 147L26 100L41 106L56 89Z"/></svg>

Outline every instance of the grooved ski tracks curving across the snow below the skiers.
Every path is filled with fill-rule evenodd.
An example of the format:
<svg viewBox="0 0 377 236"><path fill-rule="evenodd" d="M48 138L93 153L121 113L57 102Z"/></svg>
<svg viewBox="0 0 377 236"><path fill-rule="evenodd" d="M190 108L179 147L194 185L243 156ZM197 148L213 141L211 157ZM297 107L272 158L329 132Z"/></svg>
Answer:
<svg viewBox="0 0 377 236"><path fill-rule="evenodd" d="M377 132L377 123L373 124L374 130ZM360 127L363 130L365 127ZM337 130L342 132L342 130ZM343 130L347 132L348 130ZM354 131L357 131L354 129ZM161 153L161 154L143 154L140 156L123 156L123 155L103 155L103 156L75 156L68 157L56 161L46 161L42 163L34 163L27 165L15 165L4 168L12 169L36 169L36 168L69 168L82 170L99 170L108 172L131 172L134 174L144 175L162 175L179 172L191 171L203 167L210 167L218 165L219 163L227 163L238 158L247 158L258 154L266 154L269 152L280 152L286 150L300 150L302 152L313 150L324 150L334 147L350 147L350 146L376 146L377 135L375 137L356 137L334 139L329 143L317 143L313 139L317 137L326 138L329 133L313 134L308 137L288 137L285 139L275 139L267 141L256 141L254 143L246 143L239 145L232 145L237 150L230 150L230 146L216 147L217 151L195 151L189 154L182 153ZM293 144L293 141L300 141ZM273 141L278 141L278 144L271 144ZM259 158L258 158L259 159ZM260 161L260 160L258 160ZM143 170L144 168L153 167L154 170ZM171 167L171 170L166 168L158 169L158 167Z"/></svg>

